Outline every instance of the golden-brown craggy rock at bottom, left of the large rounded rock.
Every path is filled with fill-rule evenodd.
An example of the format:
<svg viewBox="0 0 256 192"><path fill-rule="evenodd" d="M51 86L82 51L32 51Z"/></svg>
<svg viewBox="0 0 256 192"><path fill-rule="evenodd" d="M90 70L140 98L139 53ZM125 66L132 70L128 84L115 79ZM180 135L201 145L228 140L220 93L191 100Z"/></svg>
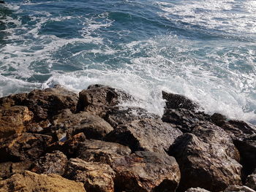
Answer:
<svg viewBox="0 0 256 192"><path fill-rule="evenodd" d="M71 158L67 166L67 177L84 183L86 191L113 192L115 172L108 164L86 162Z"/></svg>

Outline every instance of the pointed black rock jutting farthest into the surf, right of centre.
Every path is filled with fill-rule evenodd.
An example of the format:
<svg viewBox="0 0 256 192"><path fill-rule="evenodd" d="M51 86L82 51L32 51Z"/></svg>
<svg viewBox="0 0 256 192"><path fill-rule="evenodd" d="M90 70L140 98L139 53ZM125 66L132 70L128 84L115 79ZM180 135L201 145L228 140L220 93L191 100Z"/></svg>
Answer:
<svg viewBox="0 0 256 192"><path fill-rule="evenodd" d="M188 99L186 96L181 96L178 94L167 93L162 91L162 99L165 99L166 109L186 109L186 110L197 110L199 106Z"/></svg>

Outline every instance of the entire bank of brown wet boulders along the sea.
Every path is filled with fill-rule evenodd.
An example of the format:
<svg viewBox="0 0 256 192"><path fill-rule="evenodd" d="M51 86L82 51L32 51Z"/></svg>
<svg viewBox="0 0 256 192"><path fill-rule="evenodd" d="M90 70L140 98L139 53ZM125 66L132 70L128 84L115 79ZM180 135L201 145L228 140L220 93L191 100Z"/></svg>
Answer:
<svg viewBox="0 0 256 192"><path fill-rule="evenodd" d="M0 191L255 191L255 126L162 96L162 117L105 85L1 98Z"/></svg>

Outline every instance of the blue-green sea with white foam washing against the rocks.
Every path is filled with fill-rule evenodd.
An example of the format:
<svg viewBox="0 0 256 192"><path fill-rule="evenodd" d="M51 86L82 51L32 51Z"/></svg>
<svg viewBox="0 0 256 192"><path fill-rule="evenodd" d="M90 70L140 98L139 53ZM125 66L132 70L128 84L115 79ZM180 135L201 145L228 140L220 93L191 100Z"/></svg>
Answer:
<svg viewBox="0 0 256 192"><path fill-rule="evenodd" d="M161 114L161 90L255 123L256 1L0 4L0 96L102 83Z"/></svg>

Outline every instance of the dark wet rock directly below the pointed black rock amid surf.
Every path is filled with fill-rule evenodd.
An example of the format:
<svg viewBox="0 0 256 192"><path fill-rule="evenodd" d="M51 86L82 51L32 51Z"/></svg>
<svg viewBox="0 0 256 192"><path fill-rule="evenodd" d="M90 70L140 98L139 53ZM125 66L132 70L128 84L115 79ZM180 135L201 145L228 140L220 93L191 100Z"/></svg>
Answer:
<svg viewBox="0 0 256 192"><path fill-rule="evenodd" d="M165 110L162 121L170 123L174 128L184 133L191 133L195 126L211 121L204 112L195 112L187 109Z"/></svg>

